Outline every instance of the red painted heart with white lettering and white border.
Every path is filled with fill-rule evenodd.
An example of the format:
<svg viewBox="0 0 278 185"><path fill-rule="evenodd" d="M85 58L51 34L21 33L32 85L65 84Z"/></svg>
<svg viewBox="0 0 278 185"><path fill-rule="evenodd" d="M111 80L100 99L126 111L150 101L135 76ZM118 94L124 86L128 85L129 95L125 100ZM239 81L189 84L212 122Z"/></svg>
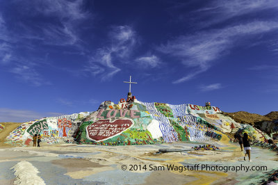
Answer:
<svg viewBox="0 0 278 185"><path fill-rule="evenodd" d="M120 135L132 126L133 120L126 118L113 122L110 122L110 120L97 120L86 127L86 134L88 139L99 142Z"/></svg>

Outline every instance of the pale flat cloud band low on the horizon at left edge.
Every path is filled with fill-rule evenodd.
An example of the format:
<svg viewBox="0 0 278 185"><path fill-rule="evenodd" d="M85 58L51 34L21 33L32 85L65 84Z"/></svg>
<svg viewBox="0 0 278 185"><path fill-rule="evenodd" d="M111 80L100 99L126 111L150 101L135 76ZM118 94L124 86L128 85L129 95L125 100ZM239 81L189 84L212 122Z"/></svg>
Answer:
<svg viewBox="0 0 278 185"><path fill-rule="evenodd" d="M0 108L0 122L28 122L49 116L62 115L60 113L38 113L29 110Z"/></svg>

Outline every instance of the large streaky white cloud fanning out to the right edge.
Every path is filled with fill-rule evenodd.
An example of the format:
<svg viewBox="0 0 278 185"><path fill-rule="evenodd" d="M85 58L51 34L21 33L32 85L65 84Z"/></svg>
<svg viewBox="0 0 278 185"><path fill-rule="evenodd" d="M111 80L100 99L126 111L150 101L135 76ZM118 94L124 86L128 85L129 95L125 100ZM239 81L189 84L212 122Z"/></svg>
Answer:
<svg viewBox="0 0 278 185"><path fill-rule="evenodd" d="M174 81L181 83L193 79L197 74L204 72L221 56L229 53L229 49L241 45L260 33L269 33L278 29L278 22L250 22L224 29L200 31L194 35L181 35L170 40L166 45L158 47L158 51L179 58L186 67L195 67L185 77Z"/></svg>

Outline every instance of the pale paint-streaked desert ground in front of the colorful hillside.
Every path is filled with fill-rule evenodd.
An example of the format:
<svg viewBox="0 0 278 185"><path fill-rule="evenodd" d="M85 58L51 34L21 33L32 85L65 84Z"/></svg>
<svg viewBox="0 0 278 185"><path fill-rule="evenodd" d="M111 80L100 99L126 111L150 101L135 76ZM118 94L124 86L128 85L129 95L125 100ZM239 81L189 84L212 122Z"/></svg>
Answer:
<svg viewBox="0 0 278 185"><path fill-rule="evenodd" d="M2 144L0 184L259 184L266 172L278 166L277 153L261 147L252 147L252 162L244 161L239 145L230 143L227 136L223 136L221 143L208 143L220 150L191 148L204 144L101 146L60 142L42 143L42 147ZM185 151L156 153L159 149ZM174 168L168 169L170 165ZM199 168L194 168L198 165ZM222 168L213 170L212 166ZM229 166L225 172L224 168ZM233 170L233 166L240 170Z"/></svg>

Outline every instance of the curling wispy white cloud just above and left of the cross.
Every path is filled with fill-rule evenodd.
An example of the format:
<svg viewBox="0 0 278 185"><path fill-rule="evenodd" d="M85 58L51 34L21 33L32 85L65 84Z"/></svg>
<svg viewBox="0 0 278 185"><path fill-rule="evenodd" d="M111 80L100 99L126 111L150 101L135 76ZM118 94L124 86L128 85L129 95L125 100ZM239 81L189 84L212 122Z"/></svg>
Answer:
<svg viewBox="0 0 278 185"><path fill-rule="evenodd" d="M113 77L120 68L115 63L126 63L136 44L136 33L130 26L114 26L108 34L109 44L97 49L85 71L97 75L101 80Z"/></svg>

